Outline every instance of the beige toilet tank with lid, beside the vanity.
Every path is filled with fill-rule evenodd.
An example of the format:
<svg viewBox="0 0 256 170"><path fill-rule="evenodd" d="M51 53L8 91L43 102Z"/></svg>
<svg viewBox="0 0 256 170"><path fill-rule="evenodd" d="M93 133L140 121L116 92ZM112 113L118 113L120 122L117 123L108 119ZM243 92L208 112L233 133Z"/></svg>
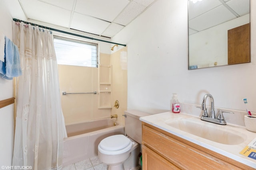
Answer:
<svg viewBox="0 0 256 170"><path fill-rule="evenodd" d="M145 113L138 110L127 110L124 111L124 130L128 137L136 141L137 143L142 143L142 125L139 120L140 117L148 116L149 113Z"/></svg>

